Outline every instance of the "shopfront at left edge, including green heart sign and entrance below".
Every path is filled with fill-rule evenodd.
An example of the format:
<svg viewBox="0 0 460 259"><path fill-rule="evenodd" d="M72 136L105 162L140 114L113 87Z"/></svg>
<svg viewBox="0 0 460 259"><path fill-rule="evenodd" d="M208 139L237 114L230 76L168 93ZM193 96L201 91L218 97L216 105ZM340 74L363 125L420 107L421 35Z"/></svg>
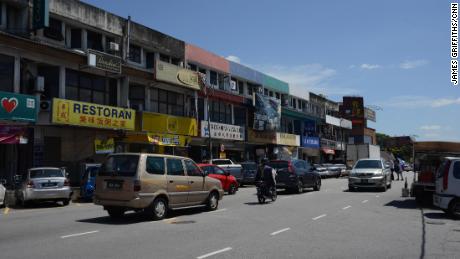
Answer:
<svg viewBox="0 0 460 259"><path fill-rule="evenodd" d="M0 91L0 179L13 182L18 171L31 167L35 96Z"/></svg>

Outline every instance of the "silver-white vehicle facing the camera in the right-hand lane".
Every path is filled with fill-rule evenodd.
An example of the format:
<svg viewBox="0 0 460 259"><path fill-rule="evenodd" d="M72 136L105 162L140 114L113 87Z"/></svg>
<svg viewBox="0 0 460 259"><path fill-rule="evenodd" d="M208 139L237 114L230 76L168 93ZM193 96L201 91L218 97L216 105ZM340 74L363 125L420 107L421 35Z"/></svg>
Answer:
<svg viewBox="0 0 460 259"><path fill-rule="evenodd" d="M382 159L365 158L356 162L348 177L348 189L379 188L386 191L391 188L391 170Z"/></svg>

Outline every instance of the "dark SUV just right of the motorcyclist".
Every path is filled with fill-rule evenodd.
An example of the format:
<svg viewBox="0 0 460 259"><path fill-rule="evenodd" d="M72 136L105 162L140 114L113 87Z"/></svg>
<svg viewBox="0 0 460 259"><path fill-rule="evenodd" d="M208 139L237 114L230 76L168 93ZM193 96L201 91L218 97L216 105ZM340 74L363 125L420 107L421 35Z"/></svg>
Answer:
<svg viewBox="0 0 460 259"><path fill-rule="evenodd" d="M272 160L268 163L277 172L276 187L302 193L304 188L321 188L321 176L305 160Z"/></svg>

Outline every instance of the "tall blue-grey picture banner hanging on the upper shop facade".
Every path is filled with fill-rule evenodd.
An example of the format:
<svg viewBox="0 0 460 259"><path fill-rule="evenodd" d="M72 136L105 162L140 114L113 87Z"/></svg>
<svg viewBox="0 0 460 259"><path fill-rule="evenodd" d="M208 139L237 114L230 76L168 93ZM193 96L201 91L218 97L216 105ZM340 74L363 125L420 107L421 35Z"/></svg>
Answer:
<svg viewBox="0 0 460 259"><path fill-rule="evenodd" d="M255 112L253 129L258 131L277 131L281 126L281 102L275 98L255 93Z"/></svg>

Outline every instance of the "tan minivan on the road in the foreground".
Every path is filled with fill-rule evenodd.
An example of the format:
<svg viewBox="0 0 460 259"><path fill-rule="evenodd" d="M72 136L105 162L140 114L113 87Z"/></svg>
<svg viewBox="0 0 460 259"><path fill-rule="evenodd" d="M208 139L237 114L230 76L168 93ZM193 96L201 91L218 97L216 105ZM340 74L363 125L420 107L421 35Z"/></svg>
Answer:
<svg viewBox="0 0 460 259"><path fill-rule="evenodd" d="M204 205L216 210L224 190L186 157L146 153L109 155L96 176L94 203L112 218L144 211L153 219L169 209Z"/></svg>

